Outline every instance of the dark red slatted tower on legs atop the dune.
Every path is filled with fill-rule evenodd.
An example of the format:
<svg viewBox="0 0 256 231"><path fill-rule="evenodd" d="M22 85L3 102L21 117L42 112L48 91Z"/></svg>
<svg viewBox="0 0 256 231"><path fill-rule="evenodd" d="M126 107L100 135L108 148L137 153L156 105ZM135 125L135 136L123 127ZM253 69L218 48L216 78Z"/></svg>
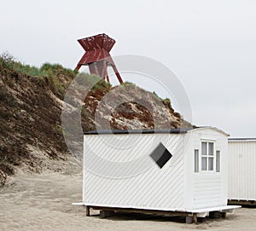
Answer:
<svg viewBox="0 0 256 231"><path fill-rule="evenodd" d="M109 38L108 35L103 33L88 38L82 38L78 41L84 48L85 54L76 67L77 71L81 66L88 65L91 74L96 74L101 78L105 78L109 83L108 66L112 66L116 77L119 79L119 83L123 83L119 71L109 54L115 43L113 38Z"/></svg>

